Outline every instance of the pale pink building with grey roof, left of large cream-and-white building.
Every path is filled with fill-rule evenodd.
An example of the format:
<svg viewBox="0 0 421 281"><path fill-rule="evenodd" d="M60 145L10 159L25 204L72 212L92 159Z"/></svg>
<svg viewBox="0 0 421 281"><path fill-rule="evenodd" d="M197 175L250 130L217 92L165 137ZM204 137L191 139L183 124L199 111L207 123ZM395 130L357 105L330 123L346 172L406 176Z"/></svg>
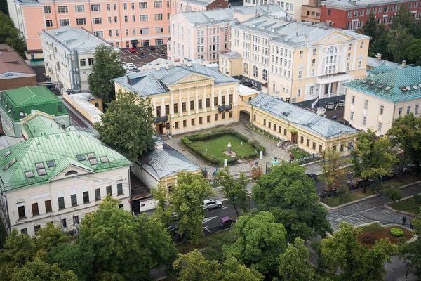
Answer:
<svg viewBox="0 0 421 281"><path fill-rule="evenodd" d="M168 60L201 58L218 63L219 55L230 49L229 26L267 13L286 15L276 4L177 13L170 19Z"/></svg>

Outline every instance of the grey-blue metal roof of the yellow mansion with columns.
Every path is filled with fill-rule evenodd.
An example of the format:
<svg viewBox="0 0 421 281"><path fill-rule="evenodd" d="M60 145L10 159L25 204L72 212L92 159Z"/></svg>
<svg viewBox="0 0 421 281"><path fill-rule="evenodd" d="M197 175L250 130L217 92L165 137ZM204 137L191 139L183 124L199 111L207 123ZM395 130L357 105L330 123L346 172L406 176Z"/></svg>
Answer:
<svg viewBox="0 0 421 281"><path fill-rule="evenodd" d="M128 91L138 93L138 96L152 96L169 92L170 90L167 85L185 79L191 74L201 74L210 77L211 79L214 79L215 84L238 82L237 79L215 72L209 67L199 63L192 63L192 66L170 65L168 66L168 70L166 67L161 67L159 70L151 68L139 73L128 73L123 77L113 80ZM128 84L128 79L131 80L131 84Z"/></svg>

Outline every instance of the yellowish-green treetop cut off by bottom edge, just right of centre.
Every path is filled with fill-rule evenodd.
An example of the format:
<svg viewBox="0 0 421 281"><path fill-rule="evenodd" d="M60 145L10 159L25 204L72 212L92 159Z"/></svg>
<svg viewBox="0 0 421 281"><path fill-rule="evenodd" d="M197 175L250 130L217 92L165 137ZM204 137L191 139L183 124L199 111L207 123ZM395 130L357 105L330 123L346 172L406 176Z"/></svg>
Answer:
<svg viewBox="0 0 421 281"><path fill-rule="evenodd" d="M222 281L263 281L262 273L239 263L234 257L229 257L222 265Z"/></svg>

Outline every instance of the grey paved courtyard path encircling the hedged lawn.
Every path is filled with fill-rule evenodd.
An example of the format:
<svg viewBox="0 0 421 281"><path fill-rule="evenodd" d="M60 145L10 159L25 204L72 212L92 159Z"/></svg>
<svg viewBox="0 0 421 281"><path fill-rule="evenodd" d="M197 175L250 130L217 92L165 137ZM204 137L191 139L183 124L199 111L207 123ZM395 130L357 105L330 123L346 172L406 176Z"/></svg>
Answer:
<svg viewBox="0 0 421 281"><path fill-rule="evenodd" d="M288 152L286 152L285 150L283 150L282 148L278 148L276 146L277 142L272 140L271 138L267 138L265 136L262 136L262 134L253 131L252 129L249 129L246 127L246 124L243 124L241 122L237 122L235 124L229 125L229 126L219 126L213 129L208 129L208 130L203 130L203 131L199 131L197 133L205 133L205 132L209 132L209 131L214 131L214 130L218 130L218 129L227 129L227 128L232 128L236 131L238 131L239 133L243 134L244 136L246 136L247 138L250 138L253 141L258 141L261 145L265 146L266 148L266 152L265 155L263 156L262 160L259 159L251 159L248 161L244 161L241 164L234 164L229 166L229 169L232 171L232 173L236 174L239 172L248 172L251 170L251 167L254 166L255 162L258 161L259 162L259 166L262 167L263 171L265 171L265 165L266 162L272 162L274 157L278 157L280 159L284 159L284 160L288 160L289 159L289 154ZM201 159L200 157L197 157L196 155L194 155L192 152L190 152L185 145L183 145L180 141L180 138L182 138L183 135L179 135L179 136L173 136L173 138L167 139L165 142L170 145L171 147L173 147L174 149L182 152L183 155L185 155L185 157L187 157L190 161L199 164L199 166L201 166L201 168L205 168L210 172L213 173L213 171L215 171L216 166L214 166L213 164L209 164L203 161L203 159ZM228 144L228 143L227 143Z"/></svg>

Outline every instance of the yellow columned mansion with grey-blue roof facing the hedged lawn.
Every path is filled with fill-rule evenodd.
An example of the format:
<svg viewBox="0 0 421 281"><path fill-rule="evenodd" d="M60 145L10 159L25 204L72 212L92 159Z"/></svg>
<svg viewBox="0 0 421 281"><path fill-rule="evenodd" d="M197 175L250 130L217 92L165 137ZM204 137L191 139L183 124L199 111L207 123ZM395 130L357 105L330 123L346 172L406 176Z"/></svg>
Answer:
<svg viewBox="0 0 421 281"><path fill-rule="evenodd" d="M238 121L238 80L201 63L163 63L114 79L115 90L149 97L156 133L187 133Z"/></svg>

